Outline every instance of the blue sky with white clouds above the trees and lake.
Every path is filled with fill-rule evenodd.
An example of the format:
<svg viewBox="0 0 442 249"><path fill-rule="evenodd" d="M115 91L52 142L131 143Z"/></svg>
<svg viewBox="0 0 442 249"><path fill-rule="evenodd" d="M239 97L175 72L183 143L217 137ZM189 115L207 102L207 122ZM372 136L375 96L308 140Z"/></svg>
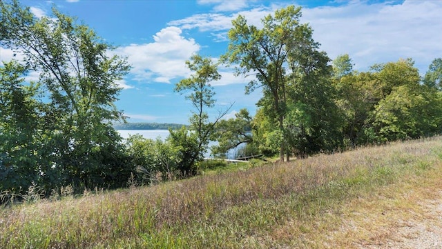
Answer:
<svg viewBox="0 0 442 249"><path fill-rule="evenodd" d="M192 54L217 61L227 51L227 32L238 14L249 25L279 8L301 6L301 23L314 29L314 40L331 59L349 54L354 69L412 58L423 75L442 57L442 0L413 1L246 1L246 0L55 0L21 1L37 16L50 16L52 5L75 16L118 48L132 69L118 84L124 88L116 106L128 122L188 123L192 106L175 84L189 77L185 61ZM0 61L12 51L0 47ZM227 118L242 108L256 112L260 90L246 95L249 78L220 66L213 119L231 104Z"/></svg>

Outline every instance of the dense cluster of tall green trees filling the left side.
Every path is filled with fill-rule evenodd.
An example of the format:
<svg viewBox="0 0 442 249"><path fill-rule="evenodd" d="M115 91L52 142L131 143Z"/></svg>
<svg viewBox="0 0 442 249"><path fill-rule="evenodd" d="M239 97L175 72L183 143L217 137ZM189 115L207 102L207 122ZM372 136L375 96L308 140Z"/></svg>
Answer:
<svg viewBox="0 0 442 249"><path fill-rule="evenodd" d="M0 69L0 190L123 186L131 169L112 123L126 60L55 8L39 19L18 1L0 10L0 46L23 57ZM23 79L30 71L36 83Z"/></svg>

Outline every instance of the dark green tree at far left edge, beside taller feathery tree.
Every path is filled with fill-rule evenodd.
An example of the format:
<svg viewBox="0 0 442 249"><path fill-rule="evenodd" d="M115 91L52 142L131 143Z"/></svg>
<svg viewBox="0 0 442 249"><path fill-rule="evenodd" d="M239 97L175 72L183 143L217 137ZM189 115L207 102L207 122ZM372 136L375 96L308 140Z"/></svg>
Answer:
<svg viewBox="0 0 442 249"><path fill-rule="evenodd" d="M0 67L0 190L19 191L39 181L37 87L24 84L17 61Z"/></svg>

